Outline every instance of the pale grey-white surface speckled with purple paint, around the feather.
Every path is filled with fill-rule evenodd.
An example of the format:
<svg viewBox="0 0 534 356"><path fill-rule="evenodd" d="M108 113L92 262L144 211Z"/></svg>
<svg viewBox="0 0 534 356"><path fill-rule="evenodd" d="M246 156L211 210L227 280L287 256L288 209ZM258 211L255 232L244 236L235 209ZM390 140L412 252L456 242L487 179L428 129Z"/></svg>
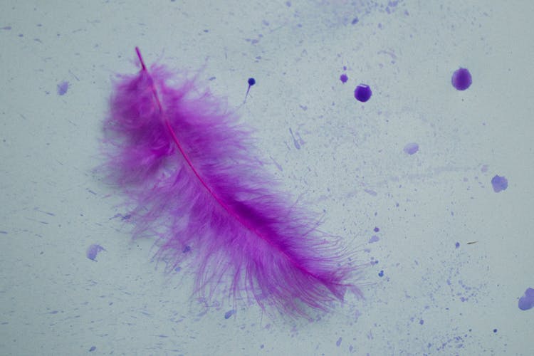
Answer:
<svg viewBox="0 0 534 356"><path fill-rule="evenodd" d="M517 300L534 286L533 16L531 1L2 1L0 353L532 355ZM91 169L135 46L204 68L231 108L256 78L239 112L288 191L379 260L365 300L313 323L225 319L227 303L189 298L187 271L155 270L151 241L129 242Z"/></svg>

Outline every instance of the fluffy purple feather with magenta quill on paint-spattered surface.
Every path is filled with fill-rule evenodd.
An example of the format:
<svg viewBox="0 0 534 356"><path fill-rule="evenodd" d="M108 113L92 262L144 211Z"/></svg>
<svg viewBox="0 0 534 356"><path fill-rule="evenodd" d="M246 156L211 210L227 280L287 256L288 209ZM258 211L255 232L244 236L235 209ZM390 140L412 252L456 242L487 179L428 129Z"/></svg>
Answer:
<svg viewBox="0 0 534 356"><path fill-rule="evenodd" d="M135 237L156 236L172 271L186 260L196 293L222 288L290 315L330 309L355 267L338 239L254 156L251 130L194 80L142 61L115 83L105 120L105 167L133 206Z"/></svg>

